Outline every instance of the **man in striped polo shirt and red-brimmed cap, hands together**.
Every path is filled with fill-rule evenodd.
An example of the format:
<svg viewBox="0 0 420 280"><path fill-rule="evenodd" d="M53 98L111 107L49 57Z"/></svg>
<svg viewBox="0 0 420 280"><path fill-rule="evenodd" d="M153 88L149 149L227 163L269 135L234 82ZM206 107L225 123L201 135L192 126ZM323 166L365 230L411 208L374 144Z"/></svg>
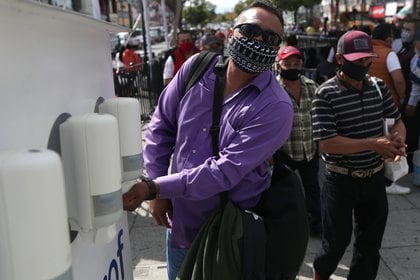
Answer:
<svg viewBox="0 0 420 280"><path fill-rule="evenodd" d="M406 155L406 131L385 83L366 75L375 56L369 35L345 33L337 44L340 70L317 88L312 103L314 140L325 163L315 280L327 280L334 273L351 242L353 223L347 279L372 280L378 272L388 216L383 163ZM395 120L386 136L383 118Z"/></svg>

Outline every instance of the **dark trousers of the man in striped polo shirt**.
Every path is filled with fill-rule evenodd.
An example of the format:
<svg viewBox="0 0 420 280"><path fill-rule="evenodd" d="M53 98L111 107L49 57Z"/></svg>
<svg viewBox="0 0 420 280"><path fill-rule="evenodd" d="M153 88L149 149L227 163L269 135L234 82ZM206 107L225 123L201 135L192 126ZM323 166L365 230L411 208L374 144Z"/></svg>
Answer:
<svg viewBox="0 0 420 280"><path fill-rule="evenodd" d="M314 261L320 279L329 279L350 244L353 215L355 242L347 279L375 279L388 217L383 172L371 178L354 179L326 171L321 213L322 247Z"/></svg>

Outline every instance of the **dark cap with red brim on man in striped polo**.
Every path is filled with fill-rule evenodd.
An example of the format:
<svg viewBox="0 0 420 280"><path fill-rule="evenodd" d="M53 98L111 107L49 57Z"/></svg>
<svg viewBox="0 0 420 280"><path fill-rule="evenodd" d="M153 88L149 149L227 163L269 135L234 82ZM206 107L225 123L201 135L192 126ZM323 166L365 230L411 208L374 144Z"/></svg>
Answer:
<svg viewBox="0 0 420 280"><path fill-rule="evenodd" d="M372 39L363 31L351 30L343 34L337 43L337 53L348 61L364 57L376 57L373 52Z"/></svg>

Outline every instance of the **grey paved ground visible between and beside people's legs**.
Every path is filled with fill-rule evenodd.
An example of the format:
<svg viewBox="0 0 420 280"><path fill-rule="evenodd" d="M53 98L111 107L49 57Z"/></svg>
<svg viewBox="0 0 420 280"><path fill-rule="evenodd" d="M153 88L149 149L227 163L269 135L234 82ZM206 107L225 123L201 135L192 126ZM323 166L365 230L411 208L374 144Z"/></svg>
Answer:
<svg viewBox="0 0 420 280"><path fill-rule="evenodd" d="M414 187L412 181L412 173L398 181L411 187L410 194L388 195L389 216L382 242L378 280L420 279L420 187ZM167 279L165 229L155 224L147 203L129 215L129 227L134 279ZM297 279L312 279L312 261L319 246L319 239L310 238ZM351 247L331 279L346 279L350 258Z"/></svg>

